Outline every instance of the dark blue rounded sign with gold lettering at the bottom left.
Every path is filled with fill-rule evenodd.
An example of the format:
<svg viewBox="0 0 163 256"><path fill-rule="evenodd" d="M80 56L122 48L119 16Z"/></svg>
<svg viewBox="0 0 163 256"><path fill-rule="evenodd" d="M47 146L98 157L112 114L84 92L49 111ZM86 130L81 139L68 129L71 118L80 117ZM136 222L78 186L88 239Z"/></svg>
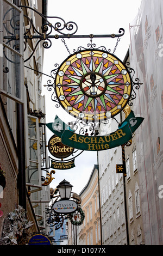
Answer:
<svg viewBox="0 0 163 256"><path fill-rule="evenodd" d="M52 241L47 234L34 233L30 237L28 245L52 245Z"/></svg>

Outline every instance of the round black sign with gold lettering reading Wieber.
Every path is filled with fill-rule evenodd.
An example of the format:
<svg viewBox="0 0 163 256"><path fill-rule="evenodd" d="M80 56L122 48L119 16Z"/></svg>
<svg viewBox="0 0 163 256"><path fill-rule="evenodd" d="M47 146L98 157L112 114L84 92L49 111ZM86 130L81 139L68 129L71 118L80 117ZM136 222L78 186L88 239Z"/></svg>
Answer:
<svg viewBox="0 0 163 256"><path fill-rule="evenodd" d="M57 157L58 159L64 159L70 156L74 151L73 148L64 145L61 142L61 138L58 137L57 135L53 135L49 139L48 150L54 157Z"/></svg>

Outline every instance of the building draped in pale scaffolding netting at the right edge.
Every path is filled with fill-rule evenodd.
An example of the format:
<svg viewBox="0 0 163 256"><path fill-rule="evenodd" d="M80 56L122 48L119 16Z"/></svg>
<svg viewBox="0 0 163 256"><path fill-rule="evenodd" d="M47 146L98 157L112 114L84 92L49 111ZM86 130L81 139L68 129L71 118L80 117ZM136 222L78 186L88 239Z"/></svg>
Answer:
<svg viewBox="0 0 163 256"><path fill-rule="evenodd" d="M136 132L136 153L146 245L162 245L163 241L162 15L162 1L143 0L130 23L130 66L143 83L133 110L145 118Z"/></svg>

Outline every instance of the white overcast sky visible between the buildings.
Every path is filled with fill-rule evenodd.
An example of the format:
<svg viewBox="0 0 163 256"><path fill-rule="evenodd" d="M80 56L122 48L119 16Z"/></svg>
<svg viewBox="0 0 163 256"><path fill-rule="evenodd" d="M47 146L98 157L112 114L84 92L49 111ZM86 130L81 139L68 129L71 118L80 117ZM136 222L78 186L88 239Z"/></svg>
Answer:
<svg viewBox="0 0 163 256"><path fill-rule="evenodd" d="M124 28L125 33L118 42L115 55L122 61L126 56L128 46L130 44L129 23L131 23L139 11L141 0L48 0L48 16L57 16L65 20L65 22L73 21L77 23L78 35L89 34L118 34L120 28ZM55 23L53 21L53 25ZM66 32L68 33L68 32ZM54 32L53 34L57 34ZM106 50L114 51L117 38L100 38L93 39L92 43L97 47L105 46ZM90 38L76 39L65 38L66 45L70 53L73 49L77 50L79 46L86 47L90 44ZM45 58L43 63L43 73L50 75L54 69L54 64L59 65L69 56L67 49L61 39L52 39L52 46L45 50ZM42 85L47 84L47 76L42 76ZM62 109L55 107L55 102L51 100L52 92L48 92L46 87L42 87L42 94L46 95L46 123L52 123L57 114L60 119L67 123L70 115ZM47 142L53 135L47 129ZM53 156L50 155L52 158ZM55 170L53 177L55 178L50 187L55 188L60 181L67 180L73 185L73 192L80 193L87 184L93 165L97 164L97 152L85 151L76 157L76 167L68 170Z"/></svg>

